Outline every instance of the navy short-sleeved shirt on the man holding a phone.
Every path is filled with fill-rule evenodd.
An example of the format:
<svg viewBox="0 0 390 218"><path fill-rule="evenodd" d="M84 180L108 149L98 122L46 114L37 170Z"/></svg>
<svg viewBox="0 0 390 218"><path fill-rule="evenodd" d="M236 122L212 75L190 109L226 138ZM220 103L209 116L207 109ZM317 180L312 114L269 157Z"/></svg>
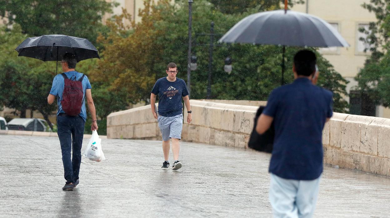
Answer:
<svg viewBox="0 0 390 218"><path fill-rule="evenodd" d="M323 172L322 131L332 117L333 94L298 78L274 89L263 113L273 117L275 138L269 172L284 179L313 180Z"/></svg>

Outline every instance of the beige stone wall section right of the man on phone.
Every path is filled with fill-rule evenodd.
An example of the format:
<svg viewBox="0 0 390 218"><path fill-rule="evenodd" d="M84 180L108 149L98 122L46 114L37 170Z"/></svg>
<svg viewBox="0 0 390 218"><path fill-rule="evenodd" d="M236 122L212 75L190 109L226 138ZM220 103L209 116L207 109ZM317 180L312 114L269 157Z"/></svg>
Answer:
<svg viewBox="0 0 390 218"><path fill-rule="evenodd" d="M323 131L324 162L390 176L390 119L333 113Z"/></svg>

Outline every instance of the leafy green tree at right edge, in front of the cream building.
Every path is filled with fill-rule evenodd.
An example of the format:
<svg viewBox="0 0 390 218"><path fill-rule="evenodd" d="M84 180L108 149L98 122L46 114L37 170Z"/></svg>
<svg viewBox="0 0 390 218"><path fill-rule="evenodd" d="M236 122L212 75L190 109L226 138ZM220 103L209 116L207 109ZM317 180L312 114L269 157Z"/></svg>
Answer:
<svg viewBox="0 0 390 218"><path fill-rule="evenodd" d="M359 30L367 34L360 40L369 44L367 50L371 54L355 79L362 96L369 97L376 105L390 106L390 0L371 0L362 7L374 12L377 21L369 24L369 30Z"/></svg>

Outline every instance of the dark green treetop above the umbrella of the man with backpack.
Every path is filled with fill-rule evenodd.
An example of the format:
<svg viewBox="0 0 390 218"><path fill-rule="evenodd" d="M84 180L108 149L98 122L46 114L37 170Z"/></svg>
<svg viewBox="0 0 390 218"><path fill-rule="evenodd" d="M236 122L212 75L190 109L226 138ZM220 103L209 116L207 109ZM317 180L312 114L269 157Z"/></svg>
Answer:
<svg viewBox="0 0 390 218"><path fill-rule="evenodd" d="M101 20L113 5L105 0L2 0L0 16L30 36L63 34L95 41L99 32L107 32Z"/></svg>

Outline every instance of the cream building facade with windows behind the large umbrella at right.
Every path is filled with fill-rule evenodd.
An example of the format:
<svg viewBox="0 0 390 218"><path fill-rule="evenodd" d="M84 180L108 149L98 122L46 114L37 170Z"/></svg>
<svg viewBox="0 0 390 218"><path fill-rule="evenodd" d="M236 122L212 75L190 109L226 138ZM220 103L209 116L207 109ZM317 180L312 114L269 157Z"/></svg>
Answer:
<svg viewBox="0 0 390 218"><path fill-rule="evenodd" d="M330 23L349 43L349 48L321 48L320 53L334 66L349 83L345 96L350 103L350 113L390 118L390 110L383 106L373 105L360 92L356 92L358 83L355 76L364 67L364 62L370 52L369 48L359 40L366 35L359 28L368 30L370 22L375 22L375 14L362 7L369 0L305 0L305 4L294 5L292 10L318 16Z"/></svg>

